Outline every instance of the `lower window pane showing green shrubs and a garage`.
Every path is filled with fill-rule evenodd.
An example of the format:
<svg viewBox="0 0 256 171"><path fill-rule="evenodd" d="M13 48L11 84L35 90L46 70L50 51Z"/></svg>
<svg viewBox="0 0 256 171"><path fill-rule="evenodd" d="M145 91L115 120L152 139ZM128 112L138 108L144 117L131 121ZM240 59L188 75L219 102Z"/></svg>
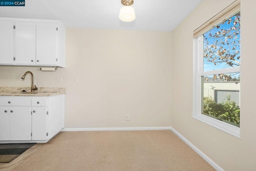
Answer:
<svg viewBox="0 0 256 171"><path fill-rule="evenodd" d="M202 76L202 114L240 124L240 72Z"/></svg>

